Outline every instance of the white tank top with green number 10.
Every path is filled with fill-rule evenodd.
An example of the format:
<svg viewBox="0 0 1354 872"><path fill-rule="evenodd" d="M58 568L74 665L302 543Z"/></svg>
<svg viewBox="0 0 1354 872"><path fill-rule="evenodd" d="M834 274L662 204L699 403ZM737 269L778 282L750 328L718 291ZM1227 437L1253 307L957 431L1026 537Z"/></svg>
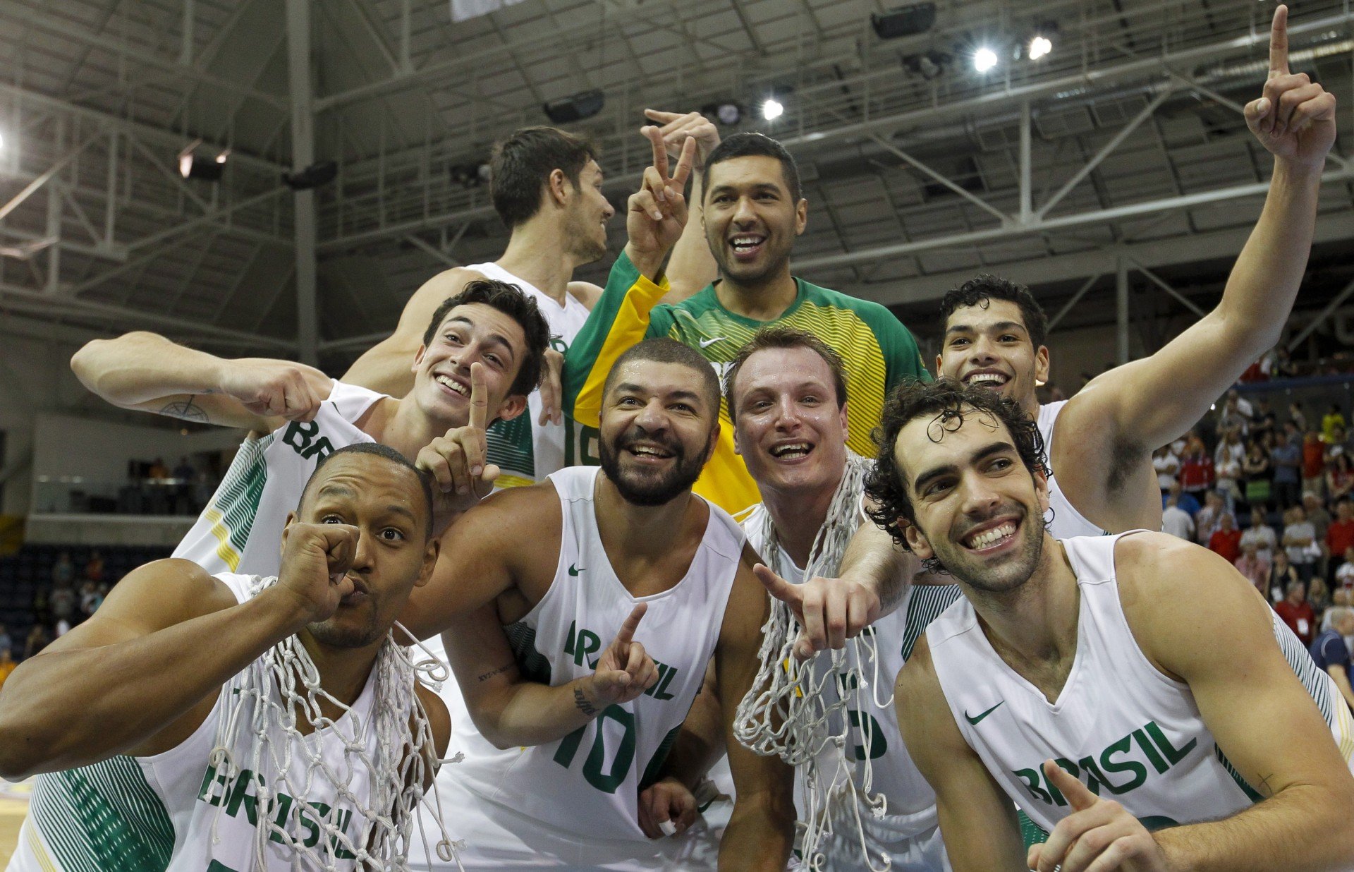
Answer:
<svg viewBox="0 0 1354 872"><path fill-rule="evenodd" d="M658 682L639 699L608 705L574 733L535 747L498 750L473 728L460 728L451 750L466 758L448 766L447 777L487 800L486 808L506 806L578 840L647 841L639 829L639 791L657 780L700 691L743 533L709 505L705 535L686 575L669 590L635 597L612 570L597 531L593 493L600 471L571 467L550 475L563 509L555 577L540 603L505 630L523 676L558 686L590 676L631 609L647 603L635 639L658 663ZM447 823L454 826L454 819Z"/></svg>

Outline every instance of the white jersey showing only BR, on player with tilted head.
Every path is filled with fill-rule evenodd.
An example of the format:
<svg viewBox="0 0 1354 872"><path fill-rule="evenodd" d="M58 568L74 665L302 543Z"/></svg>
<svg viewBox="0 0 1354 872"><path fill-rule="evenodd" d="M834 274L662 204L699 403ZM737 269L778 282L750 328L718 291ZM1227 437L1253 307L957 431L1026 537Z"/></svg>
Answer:
<svg viewBox="0 0 1354 872"><path fill-rule="evenodd" d="M336 380L314 421L290 421L240 445L221 486L173 557L211 574L276 575L282 528L320 458L344 445L375 441L353 425L385 394Z"/></svg>

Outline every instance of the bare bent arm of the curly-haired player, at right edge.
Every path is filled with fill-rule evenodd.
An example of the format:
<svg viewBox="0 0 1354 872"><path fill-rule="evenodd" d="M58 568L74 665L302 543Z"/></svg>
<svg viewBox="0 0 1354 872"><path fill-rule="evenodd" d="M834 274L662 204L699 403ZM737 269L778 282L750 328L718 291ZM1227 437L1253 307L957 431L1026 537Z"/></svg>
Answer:
<svg viewBox="0 0 1354 872"><path fill-rule="evenodd" d="M1155 833L1169 868L1347 868L1354 776L1284 659L1255 589L1216 554L1164 533L1121 540L1116 566L1124 613L1144 654L1189 684L1217 746L1265 798L1223 821ZM1208 603L1209 620L1178 608L1181 596Z"/></svg>

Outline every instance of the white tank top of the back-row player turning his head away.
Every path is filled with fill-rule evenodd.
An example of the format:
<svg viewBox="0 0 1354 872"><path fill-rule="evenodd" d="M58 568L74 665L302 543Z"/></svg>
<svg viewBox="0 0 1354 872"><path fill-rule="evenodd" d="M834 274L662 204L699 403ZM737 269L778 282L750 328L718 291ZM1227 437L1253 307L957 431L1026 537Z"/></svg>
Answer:
<svg viewBox="0 0 1354 872"><path fill-rule="evenodd" d="M474 269L486 279L516 284L532 297L540 314L546 315L546 322L550 324L550 347L559 353L569 351L578 330L588 321L588 307L567 291L565 305L561 306L552 297L496 263L470 264L466 269ZM538 424L539 420L540 391L533 390L527 395L525 412L512 421L494 421L489 427L489 462L497 463L502 470L498 477L500 487L533 485L555 470L577 463L566 460L569 456L565 444L566 429L570 443L580 437L573 418L566 417L562 425Z"/></svg>

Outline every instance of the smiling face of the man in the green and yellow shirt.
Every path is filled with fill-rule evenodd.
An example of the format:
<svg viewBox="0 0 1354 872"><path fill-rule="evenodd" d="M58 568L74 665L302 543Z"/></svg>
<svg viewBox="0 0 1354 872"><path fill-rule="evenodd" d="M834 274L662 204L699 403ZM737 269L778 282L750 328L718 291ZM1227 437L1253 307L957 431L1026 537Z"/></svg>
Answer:
<svg viewBox="0 0 1354 872"><path fill-rule="evenodd" d="M779 158L733 157L711 167L701 209L705 241L719 271L756 284L788 268L795 237L808 222L808 203L791 199Z"/></svg>

